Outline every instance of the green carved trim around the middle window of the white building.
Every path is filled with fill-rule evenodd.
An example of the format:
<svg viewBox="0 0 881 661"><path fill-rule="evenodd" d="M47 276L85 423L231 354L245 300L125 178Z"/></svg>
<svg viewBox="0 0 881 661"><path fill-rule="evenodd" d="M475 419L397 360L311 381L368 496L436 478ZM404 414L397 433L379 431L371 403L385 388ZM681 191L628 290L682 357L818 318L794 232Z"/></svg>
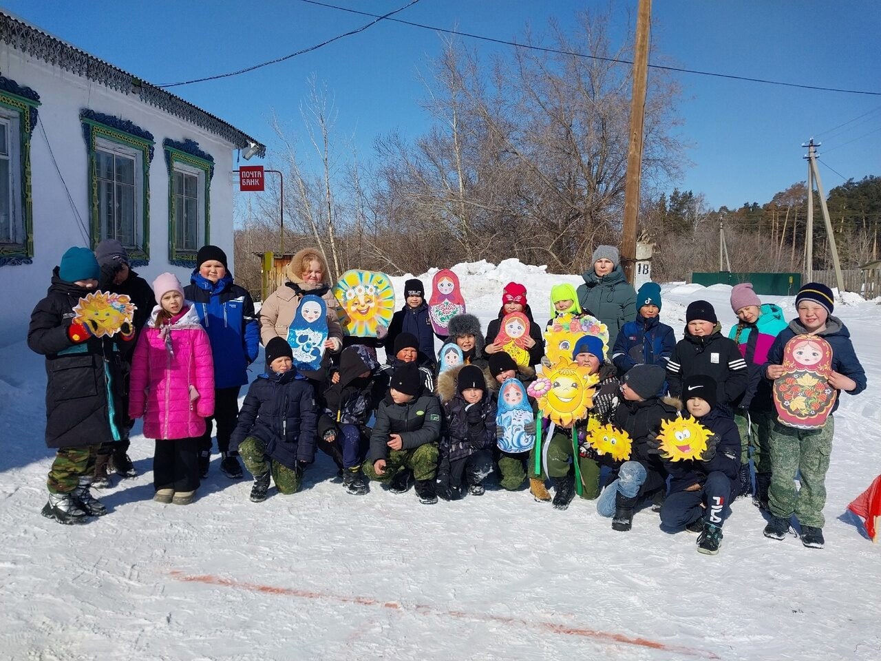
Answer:
<svg viewBox="0 0 881 661"><path fill-rule="evenodd" d="M112 122L110 125L101 120ZM131 266L146 266L150 264L150 162L153 157L152 134L139 129L130 122L120 121L116 117L100 115L90 110L80 113L80 121L83 123L83 137L85 137L86 149L89 159L89 233L92 240L92 249L100 242L100 217L98 196L98 171L95 152L99 140L122 145L140 154L141 159L141 209L140 218L141 236L140 246L135 249L129 248ZM135 222L138 222L136 217Z"/></svg>

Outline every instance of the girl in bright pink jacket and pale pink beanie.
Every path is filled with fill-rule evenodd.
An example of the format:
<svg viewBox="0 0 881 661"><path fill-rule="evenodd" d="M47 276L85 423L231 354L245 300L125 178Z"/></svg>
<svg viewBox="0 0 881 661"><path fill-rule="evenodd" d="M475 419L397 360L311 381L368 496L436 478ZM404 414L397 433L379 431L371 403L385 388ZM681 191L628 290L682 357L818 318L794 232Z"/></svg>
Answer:
<svg viewBox="0 0 881 661"><path fill-rule="evenodd" d="M188 505L199 486L199 437L214 413L211 344L173 273L153 280L153 291L159 305L137 341L129 417L144 416L144 435L156 439L153 500Z"/></svg>

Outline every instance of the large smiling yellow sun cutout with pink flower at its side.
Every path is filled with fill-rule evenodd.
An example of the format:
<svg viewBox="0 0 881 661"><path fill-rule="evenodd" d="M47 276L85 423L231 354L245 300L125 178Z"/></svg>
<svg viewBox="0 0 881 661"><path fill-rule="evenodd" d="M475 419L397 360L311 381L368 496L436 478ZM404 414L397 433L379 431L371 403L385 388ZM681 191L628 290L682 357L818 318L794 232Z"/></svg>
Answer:
<svg viewBox="0 0 881 661"><path fill-rule="evenodd" d="M561 427L571 427L582 420L594 405L594 386L599 381L589 368L560 360L547 375L529 385L529 395L538 400L538 409L545 418Z"/></svg>

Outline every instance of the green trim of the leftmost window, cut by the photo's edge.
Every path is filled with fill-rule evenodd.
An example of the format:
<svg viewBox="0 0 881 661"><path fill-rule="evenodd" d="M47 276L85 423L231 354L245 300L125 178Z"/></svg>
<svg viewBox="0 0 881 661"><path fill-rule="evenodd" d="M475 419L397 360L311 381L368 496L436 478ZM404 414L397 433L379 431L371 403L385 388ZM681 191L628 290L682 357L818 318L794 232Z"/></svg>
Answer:
<svg viewBox="0 0 881 661"><path fill-rule="evenodd" d="M3 78L4 83L11 83ZM33 93L29 88L21 88ZM20 200L24 226L23 243L0 243L0 266L33 263L33 197L31 195L31 136L37 123L39 100L0 90L0 107L19 115Z"/></svg>

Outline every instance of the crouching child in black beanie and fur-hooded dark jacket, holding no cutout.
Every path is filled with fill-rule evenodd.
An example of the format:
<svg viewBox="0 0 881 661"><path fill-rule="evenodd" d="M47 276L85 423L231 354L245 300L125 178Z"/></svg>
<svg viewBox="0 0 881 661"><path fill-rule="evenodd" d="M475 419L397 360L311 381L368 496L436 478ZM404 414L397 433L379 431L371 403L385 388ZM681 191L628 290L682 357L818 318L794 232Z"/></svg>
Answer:
<svg viewBox="0 0 881 661"><path fill-rule="evenodd" d="M448 369L438 377L444 415L438 495L445 501L468 493L482 495L484 479L492 471L496 440L496 404L483 370L476 365Z"/></svg>

